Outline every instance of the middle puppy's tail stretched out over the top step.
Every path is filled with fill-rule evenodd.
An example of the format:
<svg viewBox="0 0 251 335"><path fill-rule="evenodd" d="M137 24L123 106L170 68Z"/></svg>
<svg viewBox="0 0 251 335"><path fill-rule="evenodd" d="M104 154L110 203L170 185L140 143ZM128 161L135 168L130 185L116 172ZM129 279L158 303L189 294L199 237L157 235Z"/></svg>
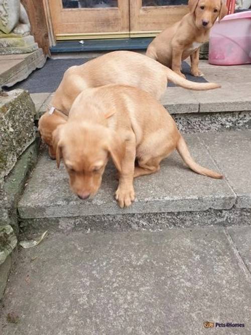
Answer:
<svg viewBox="0 0 251 335"><path fill-rule="evenodd" d="M179 74L166 67L167 79L172 81L174 84L187 89L193 89L195 91L204 91L207 89L219 88L221 85L215 82L199 83L182 78Z"/></svg>

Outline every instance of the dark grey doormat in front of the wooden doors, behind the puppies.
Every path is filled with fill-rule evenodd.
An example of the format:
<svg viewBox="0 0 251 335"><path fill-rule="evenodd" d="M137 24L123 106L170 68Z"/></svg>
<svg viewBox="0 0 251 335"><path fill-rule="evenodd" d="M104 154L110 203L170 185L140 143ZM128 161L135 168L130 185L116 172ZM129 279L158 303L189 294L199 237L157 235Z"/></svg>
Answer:
<svg viewBox="0 0 251 335"><path fill-rule="evenodd" d="M8 88L22 88L30 93L54 92L59 86L64 72L73 65L81 65L87 62L83 58L64 58L64 59L48 59L42 69L35 70L27 79ZM190 74L190 66L183 62L183 71L186 78L195 82L208 82L204 77L193 77ZM168 86L175 86L173 83L168 83Z"/></svg>

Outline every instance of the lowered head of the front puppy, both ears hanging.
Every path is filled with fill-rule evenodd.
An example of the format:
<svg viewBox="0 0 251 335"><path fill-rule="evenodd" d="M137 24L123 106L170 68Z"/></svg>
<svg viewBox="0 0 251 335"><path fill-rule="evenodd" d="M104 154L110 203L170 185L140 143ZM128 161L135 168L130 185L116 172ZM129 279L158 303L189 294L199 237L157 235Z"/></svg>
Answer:
<svg viewBox="0 0 251 335"><path fill-rule="evenodd" d="M98 191L109 156L121 170L123 144L114 131L104 126L68 122L53 132L53 140L57 166L63 159L70 187L81 199Z"/></svg>

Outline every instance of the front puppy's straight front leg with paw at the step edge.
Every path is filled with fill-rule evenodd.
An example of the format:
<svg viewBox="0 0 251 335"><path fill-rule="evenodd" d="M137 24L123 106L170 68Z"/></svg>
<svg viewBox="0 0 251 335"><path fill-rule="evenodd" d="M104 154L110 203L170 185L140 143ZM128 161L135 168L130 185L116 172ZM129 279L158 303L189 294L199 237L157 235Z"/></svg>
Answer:
<svg viewBox="0 0 251 335"><path fill-rule="evenodd" d="M115 199L121 208L128 207L135 199L134 192L134 164L136 157L136 139L132 134L127 138L126 150L121 161L121 172L119 174L118 187L115 192Z"/></svg>

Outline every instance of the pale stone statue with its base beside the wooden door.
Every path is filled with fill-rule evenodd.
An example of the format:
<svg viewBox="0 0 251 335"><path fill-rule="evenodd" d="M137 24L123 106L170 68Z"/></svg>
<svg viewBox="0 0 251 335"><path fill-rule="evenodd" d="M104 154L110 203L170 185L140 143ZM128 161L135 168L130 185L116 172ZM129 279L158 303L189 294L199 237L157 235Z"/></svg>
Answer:
<svg viewBox="0 0 251 335"><path fill-rule="evenodd" d="M20 0L0 0L0 54L29 53L38 49Z"/></svg>

